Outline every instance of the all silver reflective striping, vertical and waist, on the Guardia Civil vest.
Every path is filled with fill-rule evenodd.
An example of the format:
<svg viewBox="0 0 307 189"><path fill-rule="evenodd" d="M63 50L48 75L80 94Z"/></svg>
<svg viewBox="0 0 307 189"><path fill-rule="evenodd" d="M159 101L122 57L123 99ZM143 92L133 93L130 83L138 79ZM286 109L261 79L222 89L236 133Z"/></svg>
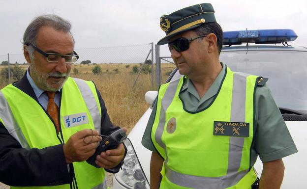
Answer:
<svg viewBox="0 0 307 189"><path fill-rule="evenodd" d="M245 122L246 111L246 77L248 75L242 73L234 73L231 121ZM178 82L177 82L178 85ZM165 125L165 110L171 104L177 85L168 86L167 91L162 99L162 107L160 110L160 119L158 128L155 133L156 142L164 148L166 154L165 176L172 183L193 189L225 189L236 185L247 173L248 169L238 172L242 159L242 149L244 145L244 137L230 137L229 156L227 174L221 177L200 177L194 175L186 175L173 171L167 166L167 153L165 144L161 141L162 133Z"/></svg>

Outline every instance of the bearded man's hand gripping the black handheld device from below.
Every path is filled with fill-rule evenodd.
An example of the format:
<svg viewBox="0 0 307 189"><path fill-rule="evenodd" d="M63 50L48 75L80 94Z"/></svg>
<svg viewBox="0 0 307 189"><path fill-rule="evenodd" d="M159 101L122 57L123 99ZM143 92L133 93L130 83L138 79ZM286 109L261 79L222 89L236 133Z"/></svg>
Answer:
<svg viewBox="0 0 307 189"><path fill-rule="evenodd" d="M125 133L127 132L127 128L124 127L122 129ZM117 148L101 152L97 155L95 163L100 167L111 169L123 160L124 153L125 150L121 143Z"/></svg>

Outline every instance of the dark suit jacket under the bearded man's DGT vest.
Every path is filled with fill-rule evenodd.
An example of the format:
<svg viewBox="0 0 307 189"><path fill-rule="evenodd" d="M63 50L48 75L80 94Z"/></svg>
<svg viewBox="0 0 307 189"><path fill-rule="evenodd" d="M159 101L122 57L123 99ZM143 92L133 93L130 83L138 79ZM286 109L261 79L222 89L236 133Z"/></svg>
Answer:
<svg viewBox="0 0 307 189"><path fill-rule="evenodd" d="M13 85L38 103L26 75ZM114 127L110 121L97 88L96 91L101 106L101 135L110 135L119 127ZM72 177L73 174L68 172L65 162L63 144L40 150L24 149L0 122L0 182L10 186L53 186L71 183Z"/></svg>

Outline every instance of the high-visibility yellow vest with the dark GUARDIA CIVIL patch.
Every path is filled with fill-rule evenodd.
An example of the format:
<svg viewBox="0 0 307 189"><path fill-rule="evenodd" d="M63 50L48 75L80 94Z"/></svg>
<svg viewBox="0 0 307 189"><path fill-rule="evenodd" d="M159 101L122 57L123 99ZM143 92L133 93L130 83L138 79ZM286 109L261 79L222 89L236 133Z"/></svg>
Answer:
<svg viewBox="0 0 307 189"><path fill-rule="evenodd" d="M197 112L179 98L184 77L161 85L151 135L164 158L160 189L250 189L257 80L226 68L215 100Z"/></svg>

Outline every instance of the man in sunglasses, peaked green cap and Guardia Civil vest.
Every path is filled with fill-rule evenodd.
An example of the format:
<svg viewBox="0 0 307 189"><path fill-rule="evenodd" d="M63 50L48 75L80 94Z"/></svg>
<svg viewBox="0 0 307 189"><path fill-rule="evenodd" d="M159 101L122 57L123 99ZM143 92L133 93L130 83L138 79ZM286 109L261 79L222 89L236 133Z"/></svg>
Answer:
<svg viewBox="0 0 307 189"><path fill-rule="evenodd" d="M219 62L223 33L210 3L160 18L184 75L162 84L142 144L153 151L151 189L279 189L281 158L297 152L267 79ZM255 102L255 103L254 103Z"/></svg>

